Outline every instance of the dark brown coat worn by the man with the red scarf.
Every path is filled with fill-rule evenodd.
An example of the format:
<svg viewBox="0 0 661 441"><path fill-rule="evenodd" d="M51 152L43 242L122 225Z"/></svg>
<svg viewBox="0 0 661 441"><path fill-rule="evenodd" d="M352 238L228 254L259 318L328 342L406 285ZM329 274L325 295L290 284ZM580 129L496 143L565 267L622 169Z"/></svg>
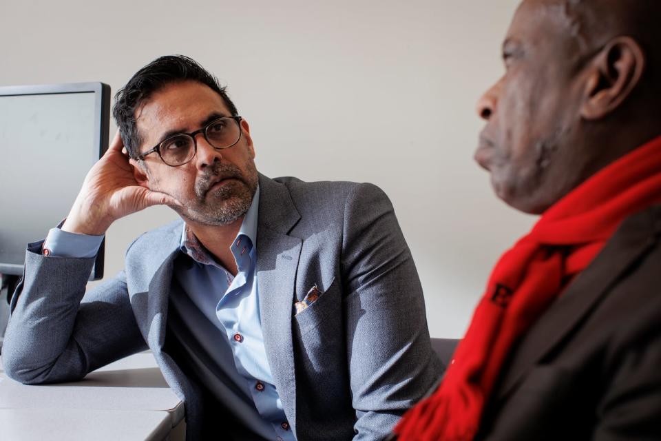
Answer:
<svg viewBox="0 0 661 441"><path fill-rule="evenodd" d="M661 206L628 218L529 329L477 437L661 440Z"/></svg>

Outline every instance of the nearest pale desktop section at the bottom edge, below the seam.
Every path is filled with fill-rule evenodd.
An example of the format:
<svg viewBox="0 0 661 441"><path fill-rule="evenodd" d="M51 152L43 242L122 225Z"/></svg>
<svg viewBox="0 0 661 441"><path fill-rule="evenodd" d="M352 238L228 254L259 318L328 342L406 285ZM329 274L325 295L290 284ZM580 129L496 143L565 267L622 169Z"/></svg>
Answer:
<svg viewBox="0 0 661 441"><path fill-rule="evenodd" d="M163 411L0 409L3 440L165 440L170 416Z"/></svg>

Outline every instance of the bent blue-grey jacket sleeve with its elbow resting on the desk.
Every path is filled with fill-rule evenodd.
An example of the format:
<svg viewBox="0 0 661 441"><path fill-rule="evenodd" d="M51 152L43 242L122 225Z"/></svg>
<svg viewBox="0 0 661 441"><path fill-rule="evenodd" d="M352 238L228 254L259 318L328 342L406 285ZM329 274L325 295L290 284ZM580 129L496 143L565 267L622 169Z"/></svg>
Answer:
<svg viewBox="0 0 661 441"><path fill-rule="evenodd" d="M28 245L2 348L7 375L25 384L79 380L146 348L125 276L85 293L94 258L46 257Z"/></svg>

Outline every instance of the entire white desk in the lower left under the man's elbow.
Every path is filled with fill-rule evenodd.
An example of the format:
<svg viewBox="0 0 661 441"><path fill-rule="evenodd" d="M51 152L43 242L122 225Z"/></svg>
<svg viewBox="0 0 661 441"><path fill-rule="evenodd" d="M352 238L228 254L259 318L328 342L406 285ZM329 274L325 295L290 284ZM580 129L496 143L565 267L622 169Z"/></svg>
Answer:
<svg viewBox="0 0 661 441"><path fill-rule="evenodd" d="M20 441L185 439L184 405L149 352L39 386L11 380L0 360L0 427L3 439Z"/></svg>

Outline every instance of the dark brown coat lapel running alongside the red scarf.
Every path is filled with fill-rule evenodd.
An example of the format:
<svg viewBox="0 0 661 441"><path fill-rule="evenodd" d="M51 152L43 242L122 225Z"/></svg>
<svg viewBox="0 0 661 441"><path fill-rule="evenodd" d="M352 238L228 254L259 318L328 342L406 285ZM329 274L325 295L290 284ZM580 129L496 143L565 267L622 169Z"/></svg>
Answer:
<svg viewBox="0 0 661 441"><path fill-rule="evenodd" d="M622 224L589 267L576 277L523 337L494 398L505 398L525 373L589 314L636 258L653 245L655 230L659 229L655 217L651 210L647 210L631 216Z"/></svg>

